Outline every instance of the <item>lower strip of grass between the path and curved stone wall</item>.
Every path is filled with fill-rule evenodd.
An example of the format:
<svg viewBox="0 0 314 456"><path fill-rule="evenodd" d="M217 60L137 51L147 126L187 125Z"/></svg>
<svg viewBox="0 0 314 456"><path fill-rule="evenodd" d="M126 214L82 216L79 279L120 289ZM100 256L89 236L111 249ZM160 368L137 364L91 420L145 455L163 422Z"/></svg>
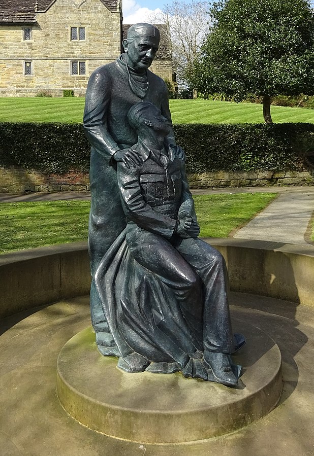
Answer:
<svg viewBox="0 0 314 456"><path fill-rule="evenodd" d="M239 193L194 196L203 237L228 237L276 195ZM0 204L0 253L87 239L89 201Z"/></svg>

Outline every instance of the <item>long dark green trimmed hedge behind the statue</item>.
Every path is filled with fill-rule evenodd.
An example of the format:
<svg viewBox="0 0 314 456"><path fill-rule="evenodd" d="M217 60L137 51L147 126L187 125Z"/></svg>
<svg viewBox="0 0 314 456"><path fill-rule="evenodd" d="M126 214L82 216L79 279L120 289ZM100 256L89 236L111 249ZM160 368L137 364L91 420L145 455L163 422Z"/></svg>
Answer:
<svg viewBox="0 0 314 456"><path fill-rule="evenodd" d="M189 172L301 170L314 165L314 124L177 124ZM0 122L0 165L88 171L80 124Z"/></svg>

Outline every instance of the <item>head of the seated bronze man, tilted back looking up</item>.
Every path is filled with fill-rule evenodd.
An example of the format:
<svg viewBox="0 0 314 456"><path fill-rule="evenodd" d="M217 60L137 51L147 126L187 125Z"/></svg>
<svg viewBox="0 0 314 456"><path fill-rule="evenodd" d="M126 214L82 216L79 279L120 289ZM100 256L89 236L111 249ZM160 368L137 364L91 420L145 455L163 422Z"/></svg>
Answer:
<svg viewBox="0 0 314 456"><path fill-rule="evenodd" d="M143 136L152 132L166 136L169 131L169 122L154 104L149 101L140 101L134 104L129 112L128 119L130 125L137 132L138 136Z"/></svg>

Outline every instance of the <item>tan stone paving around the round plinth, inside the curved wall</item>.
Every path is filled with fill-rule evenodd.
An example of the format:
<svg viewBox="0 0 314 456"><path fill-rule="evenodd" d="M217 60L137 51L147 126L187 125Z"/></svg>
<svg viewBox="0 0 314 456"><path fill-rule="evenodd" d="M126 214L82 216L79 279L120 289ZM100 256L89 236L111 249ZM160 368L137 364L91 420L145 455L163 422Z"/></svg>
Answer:
<svg viewBox="0 0 314 456"><path fill-rule="evenodd" d="M62 346L90 325L87 296L7 317L0 337L0 454L312 456L313 307L232 293L231 313L233 318L258 326L279 346L284 381L279 404L238 432L168 445L133 443L99 434L62 409L56 397L56 361ZM223 392L227 387L220 388Z"/></svg>

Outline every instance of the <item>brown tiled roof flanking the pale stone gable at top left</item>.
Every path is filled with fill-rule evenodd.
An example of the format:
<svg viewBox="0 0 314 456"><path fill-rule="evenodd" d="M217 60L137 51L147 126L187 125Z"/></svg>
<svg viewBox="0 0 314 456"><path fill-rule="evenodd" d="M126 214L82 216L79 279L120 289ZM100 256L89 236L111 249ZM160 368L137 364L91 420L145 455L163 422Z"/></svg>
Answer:
<svg viewBox="0 0 314 456"><path fill-rule="evenodd" d="M36 11L45 13L56 0L0 0L0 23L32 24ZM83 0L81 0L83 2ZM109 11L118 12L120 0L100 0Z"/></svg>

